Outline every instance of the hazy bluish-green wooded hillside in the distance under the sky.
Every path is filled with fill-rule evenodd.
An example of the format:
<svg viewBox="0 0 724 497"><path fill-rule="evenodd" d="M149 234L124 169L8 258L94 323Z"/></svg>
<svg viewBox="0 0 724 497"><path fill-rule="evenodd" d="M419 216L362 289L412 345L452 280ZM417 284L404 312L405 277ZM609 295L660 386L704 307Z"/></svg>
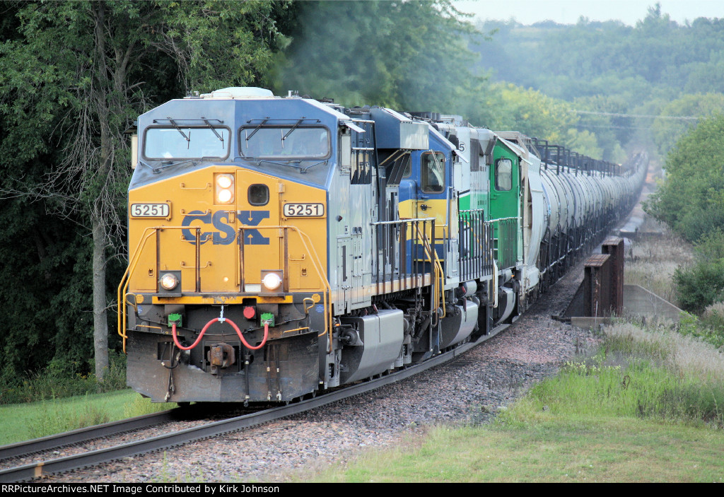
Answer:
<svg viewBox="0 0 724 497"><path fill-rule="evenodd" d="M656 4L634 27L585 18L576 25L510 20L477 27L494 31L492 43L472 46L481 70L497 82L573 101L578 131L595 133L607 160L621 161L621 145L652 138L666 153L691 123L666 116L721 109L723 19L678 25Z"/></svg>

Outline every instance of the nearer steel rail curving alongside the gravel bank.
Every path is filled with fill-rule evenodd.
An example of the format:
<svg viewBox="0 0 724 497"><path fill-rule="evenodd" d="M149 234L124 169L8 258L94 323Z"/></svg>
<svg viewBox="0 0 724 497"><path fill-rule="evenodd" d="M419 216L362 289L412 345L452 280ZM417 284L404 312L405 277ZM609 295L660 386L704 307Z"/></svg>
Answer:
<svg viewBox="0 0 724 497"><path fill-rule="evenodd" d="M74 456L66 456L58 459L49 459L43 462L35 462L32 464L25 464L24 466L9 468L7 470L0 471L0 483L13 483L23 480L30 480L32 478L41 477L43 475L50 475L51 473L77 470L82 467L93 466L96 464L113 461L115 459L122 459L123 457L127 456L136 456L138 454L145 454L151 451L167 449L173 446L180 446L184 443L198 441L203 438L211 438L214 436L223 435L224 433L231 433L234 431L243 430L245 428L251 428L255 425L279 420L283 417L295 415L300 412L305 412L309 409L321 407L325 404L331 404L332 402L347 399L351 396L364 394L368 391L375 390L376 388L380 388L390 383L404 380L405 378L409 378L413 375L421 373L424 370L434 368L437 365L441 365L444 362L450 361L455 357L458 357L460 354L463 354L463 352L467 352L472 347L481 344L483 341L486 341L487 339L496 336L500 333L500 331L508 328L508 326L509 325L497 326L489 334L481 336L476 341L462 344L459 347L455 347L448 352L443 352L442 354L439 354L432 359L426 360L421 364L414 365L403 370L395 371L394 373L376 375L375 377L363 383L358 383L356 385L348 387L342 387L339 390L330 391L327 394L316 396L312 399L295 402L293 404L288 404L282 407L265 409L264 411L259 411L253 414L232 417L227 420L211 422L206 425L201 425L194 428L187 428L185 430L180 430L174 433L167 433L165 435L146 438L145 440L124 443L122 445L113 446L106 449L97 449L95 451L89 451L83 454L76 454ZM143 416L141 416L140 418L143 418ZM92 428L98 427L91 427L86 430L90 430ZM75 430L75 432L82 431L83 430ZM75 432L62 433L59 437L68 436L70 435L70 433ZM3 449L5 449L5 447Z"/></svg>

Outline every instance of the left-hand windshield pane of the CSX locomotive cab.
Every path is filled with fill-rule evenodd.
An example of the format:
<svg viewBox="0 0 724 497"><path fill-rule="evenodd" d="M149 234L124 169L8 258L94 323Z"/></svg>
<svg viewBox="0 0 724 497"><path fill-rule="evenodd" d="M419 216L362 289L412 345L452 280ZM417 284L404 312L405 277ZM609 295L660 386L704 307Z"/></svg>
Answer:
<svg viewBox="0 0 724 497"><path fill-rule="evenodd" d="M146 129L143 156L161 161L174 158L227 158L228 128L155 127Z"/></svg>

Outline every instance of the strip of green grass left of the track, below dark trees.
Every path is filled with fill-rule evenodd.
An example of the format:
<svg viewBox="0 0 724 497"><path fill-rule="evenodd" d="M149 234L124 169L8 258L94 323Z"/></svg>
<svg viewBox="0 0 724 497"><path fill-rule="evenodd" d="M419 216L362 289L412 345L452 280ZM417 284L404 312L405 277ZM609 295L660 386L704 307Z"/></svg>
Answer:
<svg viewBox="0 0 724 497"><path fill-rule="evenodd" d="M0 406L0 445L172 409L131 390Z"/></svg>

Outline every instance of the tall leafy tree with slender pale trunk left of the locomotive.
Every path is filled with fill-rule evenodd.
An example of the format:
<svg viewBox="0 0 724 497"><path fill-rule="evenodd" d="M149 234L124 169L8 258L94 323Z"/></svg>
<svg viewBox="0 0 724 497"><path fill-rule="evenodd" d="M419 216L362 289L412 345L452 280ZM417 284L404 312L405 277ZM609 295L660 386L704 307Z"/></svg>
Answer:
<svg viewBox="0 0 724 497"><path fill-rule="evenodd" d="M3 195L43 201L90 235L98 378L108 365L106 269L122 254L125 236L130 163L125 129L157 95L258 82L269 66L275 20L285 6L14 4L16 36L0 45L0 115L6 127L0 160L11 172ZM33 174L24 175L18 162L25 171L35 164Z"/></svg>

